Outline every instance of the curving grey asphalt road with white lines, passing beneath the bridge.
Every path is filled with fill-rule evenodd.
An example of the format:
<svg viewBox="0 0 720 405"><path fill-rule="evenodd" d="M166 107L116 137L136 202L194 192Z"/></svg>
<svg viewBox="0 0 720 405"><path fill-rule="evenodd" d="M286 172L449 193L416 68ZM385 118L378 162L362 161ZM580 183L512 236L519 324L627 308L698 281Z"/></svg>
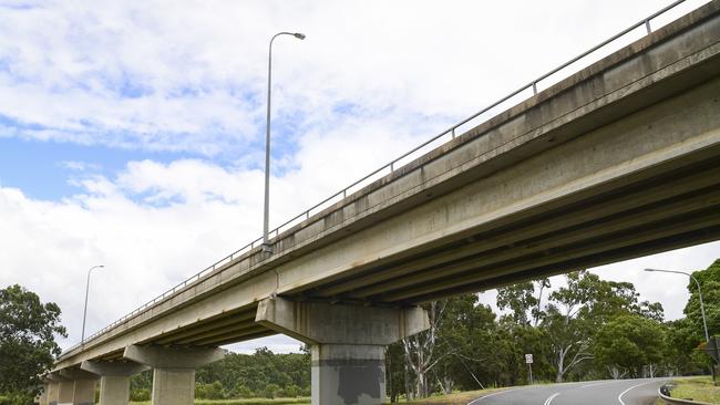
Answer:
<svg viewBox="0 0 720 405"><path fill-rule="evenodd" d="M652 405L667 378L535 385L480 397L469 405Z"/></svg>

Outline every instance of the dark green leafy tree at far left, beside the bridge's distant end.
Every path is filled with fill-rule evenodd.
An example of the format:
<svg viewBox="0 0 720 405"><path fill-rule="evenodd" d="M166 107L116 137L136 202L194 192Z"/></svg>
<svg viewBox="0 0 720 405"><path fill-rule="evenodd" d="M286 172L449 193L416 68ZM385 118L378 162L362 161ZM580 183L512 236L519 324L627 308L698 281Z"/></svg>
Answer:
<svg viewBox="0 0 720 405"><path fill-rule="evenodd" d="M40 393L40 375L60 355L55 335L66 336L60 308L16 284L0 290L0 394L18 404Z"/></svg>

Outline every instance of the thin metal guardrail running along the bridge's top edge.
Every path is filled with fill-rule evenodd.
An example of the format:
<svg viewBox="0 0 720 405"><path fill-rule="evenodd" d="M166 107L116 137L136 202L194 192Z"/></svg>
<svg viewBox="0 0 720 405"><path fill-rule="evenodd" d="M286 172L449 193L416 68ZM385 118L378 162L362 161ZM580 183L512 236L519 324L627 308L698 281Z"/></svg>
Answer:
<svg viewBox="0 0 720 405"><path fill-rule="evenodd" d="M671 4L665 7L664 9L661 9L661 10L646 17L645 19L636 22L635 24L628 27L627 29L623 30L621 32L610 37L609 39L603 41L601 43L593 46L592 49L580 53L579 55L577 55L577 56L573 58L572 60L563 63L562 65L553 69L552 71L543 74L542 76L533 80L532 82L525 84L524 86L515 90L514 92L512 92L512 93L507 94L506 96L500 98L498 101L490 104L488 106L486 106L483 110L476 112L475 114L469 116L467 118L459 122L457 124L451 126L450 128L443 131L442 133L433 136L432 138L423 142L422 144L415 146L413 149L411 149L411 150L402 154L401 156L394 158L393 160L391 160L390 163L388 163L388 164L383 165L382 167L376 169L374 172L366 175L361 179L352 183L351 185L347 186L346 188L341 189L340 191L338 191L338 193L331 195L330 197L323 199L322 201L316 204L311 208L305 210L304 212L301 212L298 216L294 217L292 219L286 221L285 224L280 225L279 227L272 229L271 231L269 231L269 236L272 237L272 238L277 238L280 235L280 232L291 228L295 225L300 224L304 220L310 219L310 217L312 216L313 212L317 214L317 212L321 211L323 208L327 208L330 205L332 205L332 204L348 197L348 195L351 195L352 193L360 190L362 187L369 185L370 183L377 180L378 178L380 178L380 177L382 177L382 176L384 176L387 174L394 173L395 169L398 167L400 167L400 166L398 166L399 163L401 163L403 160L408 162L412 157L420 157L422 154L424 154L423 149L425 147L428 147L429 145L434 144L435 142L442 139L443 137L450 137L450 139L448 139L448 141L454 139L455 136L456 136L456 132L457 132L457 129L460 127L462 127L463 125L469 124L469 123L477 120L481 115L483 115L483 114L490 112L491 110L500 106L501 104L512 100L513 97L520 95L521 93L523 93L523 92L525 92L527 90L532 90L533 95L537 94L537 85L541 82L543 82L546 79L548 79L549 76L558 73L559 71L573 65L574 63L585 59L586 56L595 53L596 51L607 46L608 44L615 42L616 40L629 34L630 32L635 31L636 29L638 29L640 27L645 27L646 30L647 30L647 34L650 34L650 32L652 32L651 27L650 27L650 22L654 19L665 14L666 12L675 9L677 6L679 6L679 4L681 4L681 3L686 2L686 1L687 0L677 0L677 1L672 2ZM110 325L103 328L102 330L93 333L84 342L91 341L91 340L97 338L99 335L110 331L111 329L113 329L113 328L128 321L133 316L135 316L135 315L140 314L141 312L147 310L148 308L153 307L155 303L164 300L165 298L167 298L169 295L173 295L176 291L186 288L187 285L192 284L193 282L196 282L199 279L202 279L204 276L207 276L207 274L212 273L213 271L215 271L216 269L218 269L223 264L235 260L236 258L251 251L253 249L255 249L255 248L257 248L257 247L259 247L261 245L263 245L263 237L259 237L259 238L253 240L251 242L247 243L246 246L238 249L237 251L224 257L223 259L220 259L220 260L216 261L215 263L208 266L207 268L200 270L198 273L191 277L189 279L178 283L177 285L175 285L175 287L173 287L171 289L168 289L167 291L163 292L161 295L154 298L153 300L147 301L146 303L144 303L141 307L136 308L131 313L126 314L125 316L119 319L117 321L111 323ZM84 344L84 342L78 343L78 344L71 346L70 349L65 350L60 355L60 357L64 356L69 352L72 352L73 350L82 346Z"/></svg>

